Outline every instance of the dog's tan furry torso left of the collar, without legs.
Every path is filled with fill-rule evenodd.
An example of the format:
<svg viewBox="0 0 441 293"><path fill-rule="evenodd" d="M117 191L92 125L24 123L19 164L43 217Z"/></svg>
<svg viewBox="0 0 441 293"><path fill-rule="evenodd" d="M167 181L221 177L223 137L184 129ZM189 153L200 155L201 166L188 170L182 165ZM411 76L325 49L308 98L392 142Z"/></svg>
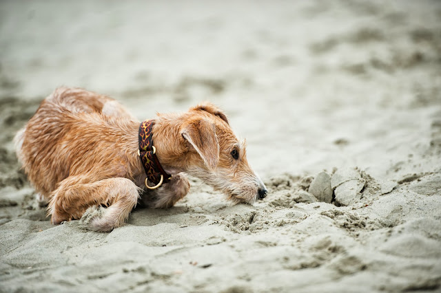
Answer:
<svg viewBox="0 0 441 293"><path fill-rule="evenodd" d="M30 182L49 199L57 184L74 173L89 177L126 177L115 141L130 131L130 116L116 119L103 113L113 99L79 89L60 88L41 102L39 109L15 138L17 157ZM109 108L109 107L107 107ZM136 133L133 135L136 138ZM119 144L121 146L121 144ZM122 144L123 145L123 144ZM23 151L25 150L25 151ZM91 169L101 167L99 172Z"/></svg>

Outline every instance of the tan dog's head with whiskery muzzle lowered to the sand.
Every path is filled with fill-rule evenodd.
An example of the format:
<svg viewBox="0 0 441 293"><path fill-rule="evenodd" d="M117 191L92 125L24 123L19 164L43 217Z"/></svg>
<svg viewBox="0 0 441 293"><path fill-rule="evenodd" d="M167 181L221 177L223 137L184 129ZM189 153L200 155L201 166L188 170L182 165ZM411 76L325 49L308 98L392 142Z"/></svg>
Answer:
<svg viewBox="0 0 441 293"><path fill-rule="evenodd" d="M236 138L220 109L204 103L189 109L183 121L187 173L223 191L234 202L252 204L267 195L265 184L247 162L245 140Z"/></svg>

